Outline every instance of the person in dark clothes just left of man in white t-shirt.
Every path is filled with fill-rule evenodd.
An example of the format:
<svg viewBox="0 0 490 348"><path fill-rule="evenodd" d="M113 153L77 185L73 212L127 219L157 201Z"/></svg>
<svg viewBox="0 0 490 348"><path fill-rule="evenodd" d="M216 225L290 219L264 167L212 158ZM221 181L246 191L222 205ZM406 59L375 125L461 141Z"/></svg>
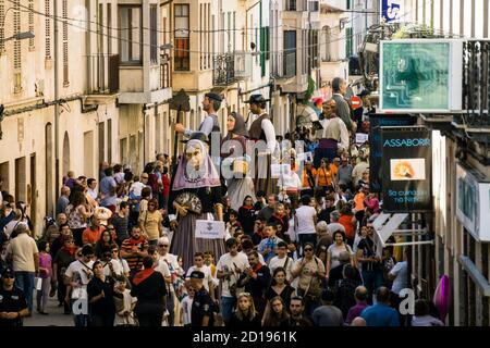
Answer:
<svg viewBox="0 0 490 348"><path fill-rule="evenodd" d="M70 264L76 260L77 247L71 235L64 235L62 239L63 246L58 250L52 262L52 282L58 283L58 307L64 307L64 314L70 314L70 301L66 301L66 285L64 284L64 272Z"/></svg>

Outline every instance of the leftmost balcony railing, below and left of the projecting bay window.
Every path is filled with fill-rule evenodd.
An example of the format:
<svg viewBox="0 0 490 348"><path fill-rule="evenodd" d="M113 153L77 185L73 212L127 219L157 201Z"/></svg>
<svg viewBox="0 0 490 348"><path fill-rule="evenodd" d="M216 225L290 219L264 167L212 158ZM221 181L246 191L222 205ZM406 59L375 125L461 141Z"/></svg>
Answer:
<svg viewBox="0 0 490 348"><path fill-rule="evenodd" d="M119 54L87 57L87 92L111 95L119 91Z"/></svg>

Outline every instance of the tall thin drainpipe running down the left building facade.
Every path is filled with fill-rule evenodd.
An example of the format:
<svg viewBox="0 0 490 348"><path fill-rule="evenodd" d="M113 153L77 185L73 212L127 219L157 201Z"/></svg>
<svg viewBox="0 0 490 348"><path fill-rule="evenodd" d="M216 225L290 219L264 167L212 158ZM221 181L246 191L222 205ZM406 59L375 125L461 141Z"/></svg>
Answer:
<svg viewBox="0 0 490 348"><path fill-rule="evenodd" d="M54 15L58 15L58 1L53 1L53 11ZM54 17L56 18L56 17ZM58 60L59 60L59 53L60 50L58 48L59 44L59 25L58 21L52 21L54 24L54 100L60 99L60 91L58 88L58 79L59 79L59 72L58 72ZM54 187L56 187L56 195L60 191L60 135L59 135L59 116L60 116L60 105L57 103L54 104ZM52 197L50 197L53 199Z"/></svg>

